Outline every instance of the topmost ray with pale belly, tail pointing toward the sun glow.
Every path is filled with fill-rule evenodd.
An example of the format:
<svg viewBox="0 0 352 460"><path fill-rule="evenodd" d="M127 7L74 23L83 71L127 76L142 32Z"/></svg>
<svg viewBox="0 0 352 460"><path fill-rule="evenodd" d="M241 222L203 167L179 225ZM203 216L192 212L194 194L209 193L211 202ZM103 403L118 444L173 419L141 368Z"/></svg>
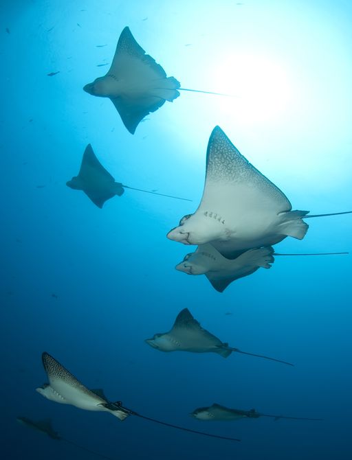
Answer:
<svg viewBox="0 0 352 460"><path fill-rule="evenodd" d="M157 111L165 101L173 102L179 97L179 91L225 95L180 88L176 78L166 77L162 66L145 54L129 27L122 30L107 74L83 89L94 96L109 97L131 134L146 115Z"/></svg>

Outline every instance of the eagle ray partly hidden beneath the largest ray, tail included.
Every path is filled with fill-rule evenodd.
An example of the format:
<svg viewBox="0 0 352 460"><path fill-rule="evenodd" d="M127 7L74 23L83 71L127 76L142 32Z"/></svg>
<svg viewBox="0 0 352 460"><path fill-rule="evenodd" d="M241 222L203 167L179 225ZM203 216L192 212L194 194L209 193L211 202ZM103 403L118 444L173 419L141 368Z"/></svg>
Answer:
<svg viewBox="0 0 352 460"><path fill-rule="evenodd" d="M206 275L212 287L218 292L236 279L252 275L258 268L271 268L274 255L333 255L348 253L315 253L315 254L280 254L274 253L272 246L248 249L230 260L223 257L210 243L201 244L194 253L189 253L177 264L176 270L187 275Z"/></svg>

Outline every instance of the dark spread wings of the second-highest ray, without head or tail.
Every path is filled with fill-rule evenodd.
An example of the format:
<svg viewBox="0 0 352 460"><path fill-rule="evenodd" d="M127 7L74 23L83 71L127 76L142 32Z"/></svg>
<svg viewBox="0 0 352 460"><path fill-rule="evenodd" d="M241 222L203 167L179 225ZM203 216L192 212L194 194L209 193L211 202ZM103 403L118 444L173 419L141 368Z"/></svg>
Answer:
<svg viewBox="0 0 352 460"><path fill-rule="evenodd" d="M83 154L78 177L82 180L83 192L100 208L116 195L115 179L98 161L90 143Z"/></svg>

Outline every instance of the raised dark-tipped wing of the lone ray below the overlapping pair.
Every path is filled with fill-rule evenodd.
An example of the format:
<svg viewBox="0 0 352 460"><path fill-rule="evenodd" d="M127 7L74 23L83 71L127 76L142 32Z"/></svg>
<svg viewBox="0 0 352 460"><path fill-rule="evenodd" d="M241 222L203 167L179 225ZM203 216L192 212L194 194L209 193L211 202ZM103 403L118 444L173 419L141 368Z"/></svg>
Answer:
<svg viewBox="0 0 352 460"><path fill-rule="evenodd" d="M192 317L188 308L179 312L173 328L168 334L175 337L183 348L214 349L214 347L222 345L219 338L201 327L199 322Z"/></svg>

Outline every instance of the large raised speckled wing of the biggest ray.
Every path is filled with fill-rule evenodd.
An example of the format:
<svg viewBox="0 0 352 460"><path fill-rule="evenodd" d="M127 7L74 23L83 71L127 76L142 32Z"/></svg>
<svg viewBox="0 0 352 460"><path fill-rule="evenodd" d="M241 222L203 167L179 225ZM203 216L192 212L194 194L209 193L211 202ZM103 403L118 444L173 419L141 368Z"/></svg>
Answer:
<svg viewBox="0 0 352 460"><path fill-rule="evenodd" d="M216 126L210 135L206 155L206 183L199 209L232 216L247 224L267 214L292 209L276 185L267 179Z"/></svg>

